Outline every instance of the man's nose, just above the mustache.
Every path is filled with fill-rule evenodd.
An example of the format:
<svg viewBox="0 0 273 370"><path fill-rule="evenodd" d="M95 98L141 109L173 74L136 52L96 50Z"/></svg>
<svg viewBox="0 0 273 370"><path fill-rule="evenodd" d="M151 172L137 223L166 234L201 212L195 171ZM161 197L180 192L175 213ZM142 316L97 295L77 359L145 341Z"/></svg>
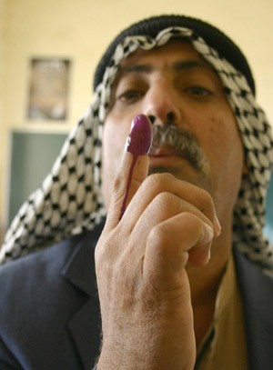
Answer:
<svg viewBox="0 0 273 370"><path fill-rule="evenodd" d="M144 113L152 124L179 125L181 112L177 99L175 88L170 83L157 82L147 93Z"/></svg>

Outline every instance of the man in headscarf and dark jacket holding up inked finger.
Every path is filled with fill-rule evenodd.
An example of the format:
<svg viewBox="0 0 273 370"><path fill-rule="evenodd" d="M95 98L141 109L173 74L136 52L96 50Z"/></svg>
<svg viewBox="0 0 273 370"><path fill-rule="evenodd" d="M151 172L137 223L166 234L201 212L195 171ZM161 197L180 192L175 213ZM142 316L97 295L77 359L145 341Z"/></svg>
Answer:
<svg viewBox="0 0 273 370"><path fill-rule="evenodd" d="M44 250L1 269L2 368L272 367L273 143L254 95L211 25L160 16L117 36L90 111L6 235L3 262ZM155 138L134 158L139 114Z"/></svg>

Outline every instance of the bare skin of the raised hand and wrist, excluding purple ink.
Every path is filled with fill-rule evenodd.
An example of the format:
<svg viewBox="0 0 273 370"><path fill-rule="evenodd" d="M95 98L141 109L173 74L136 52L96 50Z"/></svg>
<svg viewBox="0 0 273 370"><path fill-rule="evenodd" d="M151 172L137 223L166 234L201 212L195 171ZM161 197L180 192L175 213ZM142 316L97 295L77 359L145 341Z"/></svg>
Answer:
<svg viewBox="0 0 273 370"><path fill-rule="evenodd" d="M118 221L131 162L125 153L96 247L103 323L98 369L192 369L196 343L185 267L207 264L218 233L214 205L204 190L173 175L147 177L148 157L139 155Z"/></svg>

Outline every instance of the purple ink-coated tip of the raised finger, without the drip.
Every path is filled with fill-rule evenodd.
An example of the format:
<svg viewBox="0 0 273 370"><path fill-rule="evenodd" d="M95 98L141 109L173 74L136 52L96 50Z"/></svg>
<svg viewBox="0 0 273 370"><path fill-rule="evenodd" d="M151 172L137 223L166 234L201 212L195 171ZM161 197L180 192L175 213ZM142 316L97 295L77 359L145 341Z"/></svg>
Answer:
<svg viewBox="0 0 273 370"><path fill-rule="evenodd" d="M126 140L126 151L132 155L147 155L152 139L152 125L147 115L136 115Z"/></svg>

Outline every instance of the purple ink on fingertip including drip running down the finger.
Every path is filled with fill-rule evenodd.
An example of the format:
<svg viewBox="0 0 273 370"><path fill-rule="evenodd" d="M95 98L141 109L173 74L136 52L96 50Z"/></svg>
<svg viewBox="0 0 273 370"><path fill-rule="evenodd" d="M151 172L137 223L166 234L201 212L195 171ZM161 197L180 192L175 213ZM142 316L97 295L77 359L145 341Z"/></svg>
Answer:
<svg viewBox="0 0 273 370"><path fill-rule="evenodd" d="M130 166L126 194L123 200L123 204L120 210L119 220L121 220L126 210L127 197L132 181L133 170L136 165L136 159L138 155L147 155L152 145L152 125L147 115L136 115L133 119L130 134L126 141L126 151L133 155L133 161Z"/></svg>

